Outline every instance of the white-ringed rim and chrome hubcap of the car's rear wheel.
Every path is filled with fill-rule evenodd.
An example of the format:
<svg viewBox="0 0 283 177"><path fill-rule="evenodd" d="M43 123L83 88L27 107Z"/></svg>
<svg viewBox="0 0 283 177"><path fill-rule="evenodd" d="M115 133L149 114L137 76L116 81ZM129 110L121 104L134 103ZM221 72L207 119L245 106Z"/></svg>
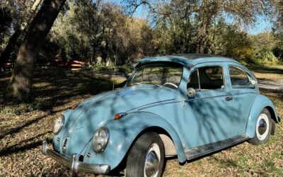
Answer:
<svg viewBox="0 0 283 177"><path fill-rule="evenodd" d="M258 117L257 127L256 127L256 134L258 139L264 140L267 137L268 130L269 130L269 120L266 114L261 114Z"/></svg>

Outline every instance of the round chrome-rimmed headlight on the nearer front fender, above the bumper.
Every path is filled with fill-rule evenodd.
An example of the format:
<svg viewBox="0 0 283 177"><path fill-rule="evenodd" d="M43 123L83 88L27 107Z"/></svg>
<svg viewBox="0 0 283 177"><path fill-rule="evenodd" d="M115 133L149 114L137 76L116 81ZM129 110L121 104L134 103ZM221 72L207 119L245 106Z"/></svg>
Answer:
<svg viewBox="0 0 283 177"><path fill-rule="evenodd" d="M101 127L93 135L93 151L96 153L103 152L108 144L109 130L107 127Z"/></svg>

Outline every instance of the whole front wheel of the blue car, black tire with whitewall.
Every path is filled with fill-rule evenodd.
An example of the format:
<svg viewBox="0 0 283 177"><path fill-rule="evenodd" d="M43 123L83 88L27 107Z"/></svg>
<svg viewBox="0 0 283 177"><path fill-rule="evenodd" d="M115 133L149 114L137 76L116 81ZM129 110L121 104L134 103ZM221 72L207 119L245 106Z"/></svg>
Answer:
<svg viewBox="0 0 283 177"><path fill-rule="evenodd" d="M165 150L161 138L155 132L146 132L129 151L126 176L162 176L164 159Z"/></svg>

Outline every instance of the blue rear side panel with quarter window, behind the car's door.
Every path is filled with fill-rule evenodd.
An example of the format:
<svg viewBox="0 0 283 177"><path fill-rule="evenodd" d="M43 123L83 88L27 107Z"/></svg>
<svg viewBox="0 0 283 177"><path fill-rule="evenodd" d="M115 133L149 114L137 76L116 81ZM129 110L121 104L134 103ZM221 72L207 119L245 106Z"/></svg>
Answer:
<svg viewBox="0 0 283 177"><path fill-rule="evenodd" d="M233 98L233 134L246 133L248 115L257 95L255 77L246 69L238 65L229 65L229 81L231 82L231 96Z"/></svg>

